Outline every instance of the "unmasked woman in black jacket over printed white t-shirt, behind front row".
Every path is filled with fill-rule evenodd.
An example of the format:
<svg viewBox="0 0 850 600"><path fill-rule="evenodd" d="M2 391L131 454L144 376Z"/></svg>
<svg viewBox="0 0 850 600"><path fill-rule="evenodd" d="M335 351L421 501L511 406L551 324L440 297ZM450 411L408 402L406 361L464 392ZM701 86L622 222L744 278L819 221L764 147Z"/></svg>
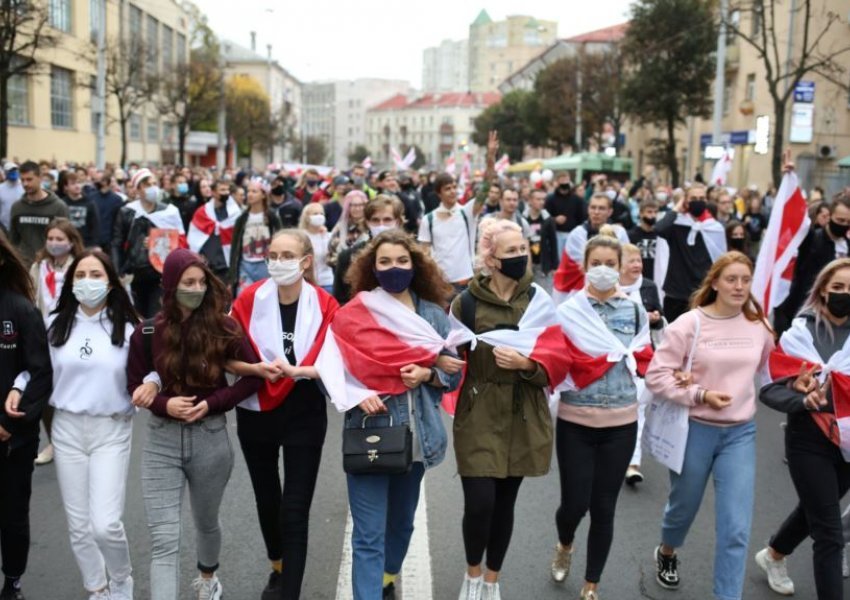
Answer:
<svg viewBox="0 0 850 600"><path fill-rule="evenodd" d="M269 186L260 178L248 182L248 210L236 219L230 243L227 284L233 297L254 282L269 276L266 254L272 236L281 229L277 211L269 209Z"/></svg>

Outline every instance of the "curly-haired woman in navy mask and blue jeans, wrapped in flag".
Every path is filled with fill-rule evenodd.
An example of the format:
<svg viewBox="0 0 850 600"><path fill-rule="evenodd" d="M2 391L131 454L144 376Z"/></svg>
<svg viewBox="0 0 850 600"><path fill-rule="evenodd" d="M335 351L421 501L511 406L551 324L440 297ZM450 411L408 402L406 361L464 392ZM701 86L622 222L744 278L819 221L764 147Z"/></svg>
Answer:
<svg viewBox="0 0 850 600"><path fill-rule="evenodd" d="M328 336L341 349L346 370L375 393L352 407L360 397L347 390L339 393L330 381L339 380L339 372L326 377L322 355L316 368L331 400L347 410L346 429L386 427L389 420L394 426L409 424L413 433L408 472L346 476L353 521L354 599L392 599L413 533L422 477L445 457L442 394L457 387L463 362L447 350L415 362L408 361L419 354L417 350L395 351L398 340L414 337L427 337L443 347L450 330L443 306L452 293L437 264L401 229L375 236L347 277L356 296L337 312ZM392 331L385 328L388 323L393 323ZM356 360L349 360L348 348L355 349ZM398 362L391 364L393 360Z"/></svg>

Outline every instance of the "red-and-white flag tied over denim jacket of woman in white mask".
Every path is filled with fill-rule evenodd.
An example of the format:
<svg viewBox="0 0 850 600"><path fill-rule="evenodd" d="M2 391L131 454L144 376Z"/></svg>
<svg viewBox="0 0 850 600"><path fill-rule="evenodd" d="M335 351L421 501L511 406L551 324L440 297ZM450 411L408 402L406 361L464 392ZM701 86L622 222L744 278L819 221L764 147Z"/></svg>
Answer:
<svg viewBox="0 0 850 600"><path fill-rule="evenodd" d="M563 328L572 360L569 374L559 390L586 388L623 359L632 376L646 374L652 360L648 319L626 346L593 310L587 294L579 293L558 307L558 322Z"/></svg>

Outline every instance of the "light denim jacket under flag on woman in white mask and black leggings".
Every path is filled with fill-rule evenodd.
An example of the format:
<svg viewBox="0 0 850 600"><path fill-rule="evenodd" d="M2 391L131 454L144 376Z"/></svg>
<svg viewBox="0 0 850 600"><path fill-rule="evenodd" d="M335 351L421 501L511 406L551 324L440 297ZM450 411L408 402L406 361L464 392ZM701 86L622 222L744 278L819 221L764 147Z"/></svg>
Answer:
<svg viewBox="0 0 850 600"><path fill-rule="evenodd" d="M628 298L612 296L605 302L599 302L590 296L587 299L611 333L625 346L631 343L646 323L646 311L643 306ZM635 315L638 317L637 323L635 323ZM561 402L573 406L620 408L634 404L636 401L637 390L625 359L611 367L604 376L583 390L561 393Z"/></svg>

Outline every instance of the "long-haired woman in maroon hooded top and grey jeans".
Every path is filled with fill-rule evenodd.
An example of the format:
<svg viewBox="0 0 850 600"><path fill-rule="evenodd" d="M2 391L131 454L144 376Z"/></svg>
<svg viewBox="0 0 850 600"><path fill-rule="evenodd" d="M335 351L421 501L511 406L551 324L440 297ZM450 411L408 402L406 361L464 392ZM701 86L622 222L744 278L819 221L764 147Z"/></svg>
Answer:
<svg viewBox="0 0 850 600"><path fill-rule="evenodd" d="M197 254L172 252L162 287L162 311L136 328L127 365L133 403L152 413L142 457L151 599L180 596L180 513L188 482L200 570L195 597L217 600L222 593L215 575L221 549L218 511L233 469L225 413L263 381L243 377L228 386L228 360L256 363L258 358L225 314L227 289Z"/></svg>

